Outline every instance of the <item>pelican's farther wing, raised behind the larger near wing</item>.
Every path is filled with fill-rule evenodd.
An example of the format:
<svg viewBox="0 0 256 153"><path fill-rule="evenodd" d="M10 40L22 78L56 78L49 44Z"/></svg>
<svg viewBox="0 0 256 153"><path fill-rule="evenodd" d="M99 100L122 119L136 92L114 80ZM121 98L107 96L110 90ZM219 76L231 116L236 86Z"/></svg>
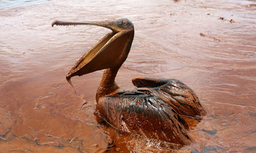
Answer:
<svg viewBox="0 0 256 153"><path fill-rule="evenodd" d="M206 114L195 92L179 80L134 78L132 83L139 88L138 90L147 88L151 94L164 100L180 115L195 118L197 115Z"/></svg>

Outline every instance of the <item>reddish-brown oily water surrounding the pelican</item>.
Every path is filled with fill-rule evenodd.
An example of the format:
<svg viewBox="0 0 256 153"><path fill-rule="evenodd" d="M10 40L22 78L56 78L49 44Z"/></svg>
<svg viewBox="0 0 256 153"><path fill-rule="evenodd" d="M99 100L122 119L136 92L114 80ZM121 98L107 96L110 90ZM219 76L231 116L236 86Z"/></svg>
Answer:
<svg viewBox="0 0 256 153"><path fill-rule="evenodd" d="M255 1L67 1L0 9L0 152L256 152ZM176 146L98 124L103 71L66 74L109 29L51 27L125 17L135 26L116 77L174 78L207 115ZM84 104L84 105L83 105ZM194 125L194 126L193 126Z"/></svg>

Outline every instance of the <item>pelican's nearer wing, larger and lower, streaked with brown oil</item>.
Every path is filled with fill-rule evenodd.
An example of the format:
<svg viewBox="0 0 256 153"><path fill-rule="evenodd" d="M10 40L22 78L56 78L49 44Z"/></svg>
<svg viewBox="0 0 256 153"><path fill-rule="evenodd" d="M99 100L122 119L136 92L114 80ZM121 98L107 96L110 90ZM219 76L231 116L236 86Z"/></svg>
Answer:
<svg viewBox="0 0 256 153"><path fill-rule="evenodd" d="M191 142L186 122L157 96L126 91L100 98L98 109L119 130L177 144Z"/></svg>

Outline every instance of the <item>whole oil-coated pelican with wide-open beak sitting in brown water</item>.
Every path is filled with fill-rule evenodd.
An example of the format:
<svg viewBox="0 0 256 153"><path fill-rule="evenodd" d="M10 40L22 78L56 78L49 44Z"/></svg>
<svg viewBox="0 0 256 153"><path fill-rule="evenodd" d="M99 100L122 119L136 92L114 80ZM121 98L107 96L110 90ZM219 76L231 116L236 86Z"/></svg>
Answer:
<svg viewBox="0 0 256 153"><path fill-rule="evenodd" d="M66 79L105 69L96 93L100 116L116 129L175 144L188 145L188 124L181 116L205 114L194 91L175 79L134 78L136 90L122 90L115 83L134 39L134 25L126 18L111 22L63 22L53 25L97 25L109 28L68 72ZM71 84L72 85L72 84Z"/></svg>

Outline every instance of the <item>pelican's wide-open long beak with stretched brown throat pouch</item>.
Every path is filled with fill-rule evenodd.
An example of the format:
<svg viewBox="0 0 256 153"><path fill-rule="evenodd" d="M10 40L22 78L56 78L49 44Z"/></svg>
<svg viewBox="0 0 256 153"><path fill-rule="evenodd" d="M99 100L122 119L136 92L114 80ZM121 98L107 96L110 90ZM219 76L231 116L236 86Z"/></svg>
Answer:
<svg viewBox="0 0 256 153"><path fill-rule="evenodd" d="M74 67L67 73L66 79L71 83L71 77L95 72L97 70L121 67L129 54L134 29L120 26L120 21L111 22L63 22L53 21L53 25L96 25L109 28L108 33L98 43L85 53Z"/></svg>

